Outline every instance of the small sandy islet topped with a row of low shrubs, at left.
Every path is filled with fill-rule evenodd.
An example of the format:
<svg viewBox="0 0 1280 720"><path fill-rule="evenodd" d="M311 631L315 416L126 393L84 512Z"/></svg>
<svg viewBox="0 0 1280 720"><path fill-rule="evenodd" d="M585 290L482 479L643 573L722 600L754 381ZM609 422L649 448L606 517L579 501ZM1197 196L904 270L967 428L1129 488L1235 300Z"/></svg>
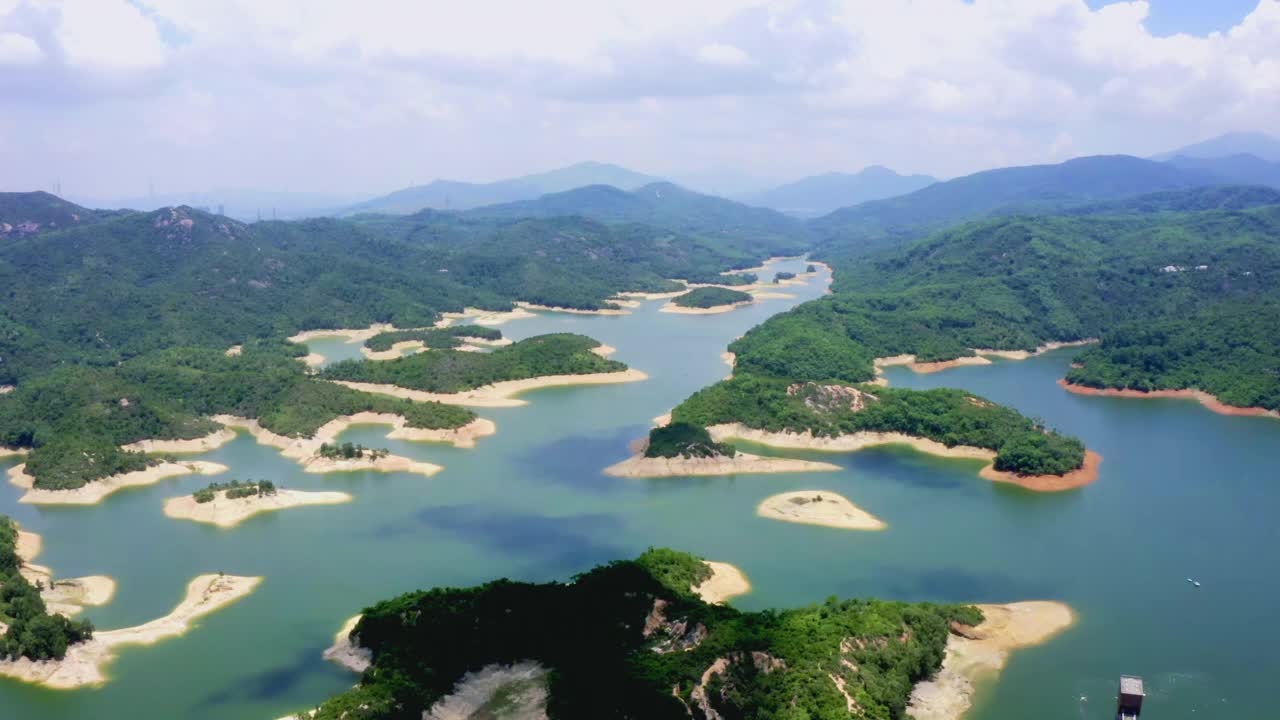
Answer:
<svg viewBox="0 0 1280 720"><path fill-rule="evenodd" d="M232 480L211 483L192 495L172 497L164 503L164 514L178 520L234 528L260 512L307 505L337 505L351 500L352 497L344 492L282 489L271 480L247 483Z"/></svg>

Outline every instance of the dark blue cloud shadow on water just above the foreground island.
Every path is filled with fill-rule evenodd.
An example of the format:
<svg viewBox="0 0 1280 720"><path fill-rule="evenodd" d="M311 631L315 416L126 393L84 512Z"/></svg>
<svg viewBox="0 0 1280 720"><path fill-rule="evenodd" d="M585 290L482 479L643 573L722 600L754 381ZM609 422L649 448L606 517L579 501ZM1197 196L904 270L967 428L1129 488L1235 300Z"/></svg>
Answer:
<svg viewBox="0 0 1280 720"><path fill-rule="evenodd" d="M483 505L453 505L419 510L413 519L467 543L558 568L588 566L591 561L626 556L625 546L598 539L621 537L626 530L621 518L603 512L545 516Z"/></svg>

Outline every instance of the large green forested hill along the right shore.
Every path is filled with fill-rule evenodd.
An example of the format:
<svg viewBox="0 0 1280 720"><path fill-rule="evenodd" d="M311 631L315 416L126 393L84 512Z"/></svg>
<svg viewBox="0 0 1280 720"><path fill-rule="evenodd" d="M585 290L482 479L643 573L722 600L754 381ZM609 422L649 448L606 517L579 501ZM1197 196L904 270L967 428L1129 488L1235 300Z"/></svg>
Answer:
<svg viewBox="0 0 1280 720"><path fill-rule="evenodd" d="M737 368L861 380L878 356L1101 337L1073 382L1280 407L1280 205L984 220L841 264L833 291L733 343Z"/></svg>

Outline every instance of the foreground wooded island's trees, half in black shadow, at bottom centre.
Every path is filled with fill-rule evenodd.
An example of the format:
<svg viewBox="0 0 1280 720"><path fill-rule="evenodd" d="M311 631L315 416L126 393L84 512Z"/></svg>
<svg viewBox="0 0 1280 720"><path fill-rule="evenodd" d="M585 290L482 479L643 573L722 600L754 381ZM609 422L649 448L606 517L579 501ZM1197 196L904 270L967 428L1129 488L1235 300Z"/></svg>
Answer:
<svg viewBox="0 0 1280 720"><path fill-rule="evenodd" d="M828 600L740 612L692 591L710 569L650 550L571 583L495 580L406 593L364 611L351 641L371 665L314 717L420 717L484 674L488 697L531 696L553 717L902 717L972 606ZM538 673L517 673L536 664ZM467 674L472 675L467 675ZM540 692L529 693L536 683Z"/></svg>

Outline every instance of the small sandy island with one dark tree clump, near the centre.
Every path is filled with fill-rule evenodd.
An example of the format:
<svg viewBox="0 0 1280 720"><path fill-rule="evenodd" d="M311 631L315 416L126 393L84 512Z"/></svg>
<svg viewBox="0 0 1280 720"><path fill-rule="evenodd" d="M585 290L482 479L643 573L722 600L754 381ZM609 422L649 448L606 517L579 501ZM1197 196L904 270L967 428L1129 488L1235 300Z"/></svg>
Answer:
<svg viewBox="0 0 1280 720"><path fill-rule="evenodd" d="M604 469L616 478L669 478L686 475L736 475L748 473L814 473L838 470L838 465L790 457L764 457L739 452L712 439L707 428L671 423L654 428L639 454Z"/></svg>

